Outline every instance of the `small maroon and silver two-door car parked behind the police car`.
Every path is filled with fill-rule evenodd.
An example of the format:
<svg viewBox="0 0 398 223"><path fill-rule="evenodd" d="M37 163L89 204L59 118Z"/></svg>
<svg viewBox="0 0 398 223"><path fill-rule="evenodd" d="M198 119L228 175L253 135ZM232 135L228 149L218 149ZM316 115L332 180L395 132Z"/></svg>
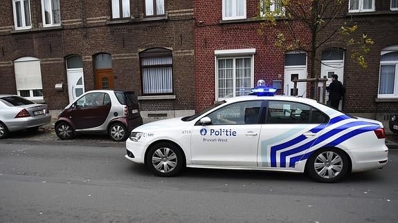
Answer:
<svg viewBox="0 0 398 223"><path fill-rule="evenodd" d="M125 141L133 128L143 124L138 97L126 90L91 90L66 106L55 122L60 139L78 133L108 134Z"/></svg>

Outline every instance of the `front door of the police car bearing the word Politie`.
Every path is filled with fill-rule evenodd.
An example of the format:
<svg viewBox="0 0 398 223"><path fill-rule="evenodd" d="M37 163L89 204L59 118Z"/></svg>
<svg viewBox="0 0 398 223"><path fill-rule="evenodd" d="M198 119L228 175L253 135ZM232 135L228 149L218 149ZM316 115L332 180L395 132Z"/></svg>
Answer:
<svg viewBox="0 0 398 223"><path fill-rule="evenodd" d="M208 126L192 128L192 164L257 166L257 145L262 101L242 101L207 115Z"/></svg>

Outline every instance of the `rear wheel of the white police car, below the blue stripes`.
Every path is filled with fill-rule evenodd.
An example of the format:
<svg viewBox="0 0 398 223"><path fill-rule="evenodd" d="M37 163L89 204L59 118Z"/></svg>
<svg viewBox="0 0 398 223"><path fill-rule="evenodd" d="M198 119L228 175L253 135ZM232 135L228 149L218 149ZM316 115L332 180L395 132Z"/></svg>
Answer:
<svg viewBox="0 0 398 223"><path fill-rule="evenodd" d="M314 180L323 183L338 182L348 172L348 158L343 151L327 148L315 151L308 160L307 171Z"/></svg>

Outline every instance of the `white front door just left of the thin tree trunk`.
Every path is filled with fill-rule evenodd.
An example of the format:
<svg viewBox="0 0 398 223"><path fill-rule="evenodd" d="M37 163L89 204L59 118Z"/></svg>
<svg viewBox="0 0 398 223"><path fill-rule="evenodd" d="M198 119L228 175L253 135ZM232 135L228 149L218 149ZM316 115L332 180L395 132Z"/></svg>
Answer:
<svg viewBox="0 0 398 223"><path fill-rule="evenodd" d="M307 67L305 66L285 66L284 67L284 95L293 95L294 77L297 79L307 78ZM307 82L297 83L297 95L306 97L307 95Z"/></svg>

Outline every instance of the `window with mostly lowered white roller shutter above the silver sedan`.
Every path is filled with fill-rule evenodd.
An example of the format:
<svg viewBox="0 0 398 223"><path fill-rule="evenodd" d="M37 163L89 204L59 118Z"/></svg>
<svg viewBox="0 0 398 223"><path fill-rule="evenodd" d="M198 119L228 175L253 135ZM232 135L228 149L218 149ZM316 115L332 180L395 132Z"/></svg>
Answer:
<svg viewBox="0 0 398 223"><path fill-rule="evenodd" d="M40 61L34 57L21 57L14 61L17 95L28 99L43 99Z"/></svg>

